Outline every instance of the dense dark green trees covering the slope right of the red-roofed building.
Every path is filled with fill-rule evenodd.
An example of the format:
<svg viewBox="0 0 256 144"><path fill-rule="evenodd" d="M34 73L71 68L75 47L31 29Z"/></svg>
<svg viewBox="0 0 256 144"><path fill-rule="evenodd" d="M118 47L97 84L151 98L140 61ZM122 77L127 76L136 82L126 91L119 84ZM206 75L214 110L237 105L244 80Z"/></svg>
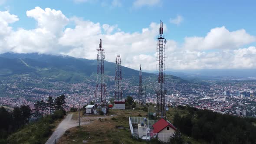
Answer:
<svg viewBox="0 0 256 144"><path fill-rule="evenodd" d="M209 110L192 107L186 109L188 114L174 115L174 126L183 134L195 139L203 139L213 144L255 144L255 118L240 118L233 115L222 115Z"/></svg>

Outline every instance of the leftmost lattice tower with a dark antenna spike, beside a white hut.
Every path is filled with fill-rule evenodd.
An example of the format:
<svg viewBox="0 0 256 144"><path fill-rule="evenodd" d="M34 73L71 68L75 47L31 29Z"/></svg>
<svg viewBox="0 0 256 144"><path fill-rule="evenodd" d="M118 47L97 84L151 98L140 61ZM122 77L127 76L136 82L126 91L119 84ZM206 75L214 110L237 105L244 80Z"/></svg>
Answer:
<svg viewBox="0 0 256 144"><path fill-rule="evenodd" d="M106 94L106 84L104 82L104 60L105 60L105 52L102 49L102 39L100 39L99 49L97 49L97 84L95 89L94 101L95 104L105 104L105 94Z"/></svg>

